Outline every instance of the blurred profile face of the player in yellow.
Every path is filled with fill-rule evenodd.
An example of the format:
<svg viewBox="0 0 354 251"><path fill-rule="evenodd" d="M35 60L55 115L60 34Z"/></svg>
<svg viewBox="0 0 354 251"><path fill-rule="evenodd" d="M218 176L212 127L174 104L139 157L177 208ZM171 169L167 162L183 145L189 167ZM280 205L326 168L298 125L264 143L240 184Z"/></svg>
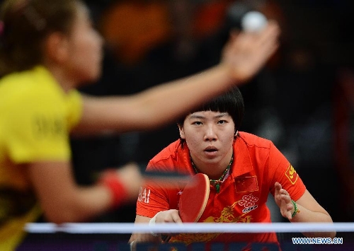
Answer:
<svg viewBox="0 0 354 251"><path fill-rule="evenodd" d="M76 83L96 81L101 76L103 39L93 28L86 6L78 5L68 49L66 67Z"/></svg>

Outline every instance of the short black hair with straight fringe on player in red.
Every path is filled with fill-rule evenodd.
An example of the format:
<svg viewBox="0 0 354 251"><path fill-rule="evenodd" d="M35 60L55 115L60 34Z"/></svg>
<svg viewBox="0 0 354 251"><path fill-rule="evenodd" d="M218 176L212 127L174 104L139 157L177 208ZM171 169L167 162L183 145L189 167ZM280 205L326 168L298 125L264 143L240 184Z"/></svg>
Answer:
<svg viewBox="0 0 354 251"><path fill-rule="evenodd" d="M203 103L199 107L191 110L181 119L178 119L177 124L183 127L185 117L193 112L212 111L212 112L227 112L232 117L235 124L235 132L241 127L242 119L244 118L244 98L242 97L239 88L234 86L227 93L219 95L212 100Z"/></svg>

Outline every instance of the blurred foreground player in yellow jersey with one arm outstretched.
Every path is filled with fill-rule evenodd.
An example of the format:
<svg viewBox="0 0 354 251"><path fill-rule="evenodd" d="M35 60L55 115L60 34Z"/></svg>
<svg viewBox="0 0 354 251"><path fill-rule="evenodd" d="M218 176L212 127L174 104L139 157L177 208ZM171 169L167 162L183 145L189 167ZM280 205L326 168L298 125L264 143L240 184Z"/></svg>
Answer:
<svg viewBox="0 0 354 251"><path fill-rule="evenodd" d="M25 223L86 221L128 199L137 165L80 187L70 134L154 129L205 98L251 78L278 47L279 28L232 35L221 62L190 78L127 97L94 98L76 88L101 74L103 40L80 0L1 1L0 250L14 250Z"/></svg>

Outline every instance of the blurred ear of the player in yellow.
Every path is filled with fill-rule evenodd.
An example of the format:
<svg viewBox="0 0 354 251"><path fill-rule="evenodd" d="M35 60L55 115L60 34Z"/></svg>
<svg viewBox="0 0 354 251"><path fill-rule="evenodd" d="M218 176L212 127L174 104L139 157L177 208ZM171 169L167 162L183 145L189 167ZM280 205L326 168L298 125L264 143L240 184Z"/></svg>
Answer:
<svg viewBox="0 0 354 251"><path fill-rule="evenodd" d="M50 61L65 62L69 57L69 41L62 33L51 33L45 40L45 55Z"/></svg>

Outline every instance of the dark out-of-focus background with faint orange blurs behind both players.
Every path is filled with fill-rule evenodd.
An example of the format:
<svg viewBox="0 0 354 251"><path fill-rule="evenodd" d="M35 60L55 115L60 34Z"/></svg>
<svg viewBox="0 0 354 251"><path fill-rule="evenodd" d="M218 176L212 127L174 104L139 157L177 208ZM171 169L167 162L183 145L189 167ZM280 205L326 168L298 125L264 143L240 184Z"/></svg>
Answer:
<svg viewBox="0 0 354 251"><path fill-rule="evenodd" d="M224 13L240 1L86 2L107 44L103 77L81 91L128 95L216 64L225 42ZM271 139L333 221L353 221L353 4L244 2L276 19L282 35L267 66L240 87L246 105L241 130ZM176 124L72 139L76 179L88 185L103 168L147 163L176 139ZM128 204L94 221L134 219L135 204Z"/></svg>

